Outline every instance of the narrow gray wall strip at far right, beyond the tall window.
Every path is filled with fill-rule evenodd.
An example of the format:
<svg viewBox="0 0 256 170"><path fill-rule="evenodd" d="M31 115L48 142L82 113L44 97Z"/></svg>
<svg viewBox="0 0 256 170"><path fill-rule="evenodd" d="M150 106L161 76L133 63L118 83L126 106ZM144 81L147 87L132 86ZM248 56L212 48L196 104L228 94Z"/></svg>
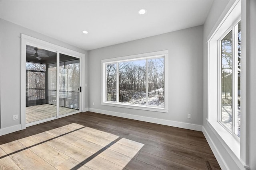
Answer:
<svg viewBox="0 0 256 170"><path fill-rule="evenodd" d="M246 126L244 131L246 140L244 141L246 147L245 157L246 164L251 170L256 170L256 1L247 0L242 1L242 20L241 31L244 28L244 39L241 44L241 53L246 57L246 116L241 117L245 119ZM241 36L243 34L241 33ZM243 41L244 40L244 41ZM241 96L242 98L242 96ZM242 107L242 106L241 106ZM241 112L242 113L242 112ZM242 130L242 127L241 127Z"/></svg>

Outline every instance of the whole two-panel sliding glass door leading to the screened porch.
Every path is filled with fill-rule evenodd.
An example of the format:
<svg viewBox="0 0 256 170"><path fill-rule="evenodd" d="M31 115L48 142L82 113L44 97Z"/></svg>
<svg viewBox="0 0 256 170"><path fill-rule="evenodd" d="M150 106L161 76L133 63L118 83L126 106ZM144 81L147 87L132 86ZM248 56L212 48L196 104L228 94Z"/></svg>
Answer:
<svg viewBox="0 0 256 170"><path fill-rule="evenodd" d="M26 45L26 124L80 111L80 58Z"/></svg>

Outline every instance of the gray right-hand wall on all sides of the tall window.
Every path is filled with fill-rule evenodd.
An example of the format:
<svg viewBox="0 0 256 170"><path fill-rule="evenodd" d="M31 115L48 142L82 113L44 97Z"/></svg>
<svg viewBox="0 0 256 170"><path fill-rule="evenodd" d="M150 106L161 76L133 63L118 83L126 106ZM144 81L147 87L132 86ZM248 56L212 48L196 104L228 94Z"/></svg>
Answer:
<svg viewBox="0 0 256 170"><path fill-rule="evenodd" d="M214 29L216 29L216 25L220 23L220 21L224 18L225 14L228 12L232 4L234 4L234 0L226 0L226 1L214 1L212 4L212 8L208 14L208 17L204 23L204 57L203 57L203 72L204 72L204 100L203 100L203 127L211 137L211 141L214 147L218 150L218 153L215 155L217 160L220 163L220 166L223 169L230 170L239 170L245 169L245 167L238 165L243 165L242 162L234 161L230 152L226 149L226 144L223 141L218 140L216 132L212 130L212 128L208 125L206 121L207 117L207 62L208 62L208 54L207 54L207 38L209 35L212 35ZM246 84L246 94L241 94L241 156L240 159L244 161L246 165L250 167L251 170L256 169L256 34L252 30L256 30L256 1L242 0L242 8L241 8L241 36L242 36L242 45L241 45L241 53L242 53L242 61L246 61L243 63L243 66L246 65L246 70L242 70L242 76L246 76L246 78L241 80L246 80L243 84ZM245 30L246 29L246 30ZM246 43L246 44L245 44ZM246 58L246 60L244 59ZM246 72L246 75L245 75ZM242 77L241 76L241 77ZM241 85L242 86L242 85ZM241 93L244 91L241 90ZM245 96L245 98L243 98ZM246 100L246 104L244 101ZM217 114L217 113L216 113ZM212 148L212 150L214 150ZM239 160L238 160L239 161ZM223 164L226 164L226 166ZM238 164L237 164L238 163Z"/></svg>

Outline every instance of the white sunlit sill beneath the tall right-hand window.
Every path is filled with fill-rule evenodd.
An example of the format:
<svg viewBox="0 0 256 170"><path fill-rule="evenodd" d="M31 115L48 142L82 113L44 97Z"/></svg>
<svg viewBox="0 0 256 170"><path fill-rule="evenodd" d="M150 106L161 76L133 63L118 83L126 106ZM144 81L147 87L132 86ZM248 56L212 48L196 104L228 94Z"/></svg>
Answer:
<svg viewBox="0 0 256 170"><path fill-rule="evenodd" d="M217 133L216 136L222 145L226 148L229 154L233 157L236 156L240 160L240 141L238 141L230 132L228 132L219 122L209 121L207 124L212 129L214 133ZM236 160L233 157L233 160Z"/></svg>

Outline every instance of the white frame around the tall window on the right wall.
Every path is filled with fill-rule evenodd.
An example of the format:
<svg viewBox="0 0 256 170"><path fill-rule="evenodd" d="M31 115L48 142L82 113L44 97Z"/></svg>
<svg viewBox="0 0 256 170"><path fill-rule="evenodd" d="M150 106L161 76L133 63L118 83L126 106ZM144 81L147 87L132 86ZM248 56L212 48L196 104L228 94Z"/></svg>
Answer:
<svg viewBox="0 0 256 170"><path fill-rule="evenodd" d="M212 129L215 133L218 141L222 143L222 146L230 153L233 160L235 161L238 166L240 160L240 140L244 141L243 138L238 138L236 135L233 135L230 131L226 129L220 123L220 39L223 38L228 31L231 30L232 25L238 23L241 18L241 1L236 0L228 13L224 16L223 20L217 23L218 25L214 26L214 30L212 30L211 34L207 37L207 47L208 47L208 103L207 103L207 111L208 116L206 118L207 125ZM243 35L242 35L243 36ZM233 51L234 53L234 51ZM245 70L245 65L243 64L241 72ZM234 70L233 70L234 71ZM242 78L241 78L242 84ZM241 86L241 93L245 91L244 86ZM243 99L242 99L243 100ZM243 111L241 106L241 112ZM243 113L241 113L243 114ZM244 126L243 121L241 120L241 127ZM243 131L241 131L241 136L244 136Z"/></svg>

